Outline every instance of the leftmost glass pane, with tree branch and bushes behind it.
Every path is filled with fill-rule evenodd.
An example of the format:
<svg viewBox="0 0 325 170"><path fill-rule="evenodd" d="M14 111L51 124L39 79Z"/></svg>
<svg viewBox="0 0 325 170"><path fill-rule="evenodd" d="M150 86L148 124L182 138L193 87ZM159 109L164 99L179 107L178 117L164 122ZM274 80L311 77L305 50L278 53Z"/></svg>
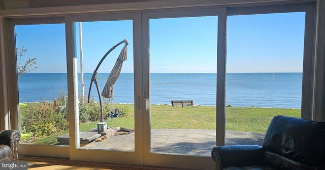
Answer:
<svg viewBox="0 0 325 170"><path fill-rule="evenodd" d="M60 145L67 133L68 91L64 24L17 25L20 142Z"/></svg>

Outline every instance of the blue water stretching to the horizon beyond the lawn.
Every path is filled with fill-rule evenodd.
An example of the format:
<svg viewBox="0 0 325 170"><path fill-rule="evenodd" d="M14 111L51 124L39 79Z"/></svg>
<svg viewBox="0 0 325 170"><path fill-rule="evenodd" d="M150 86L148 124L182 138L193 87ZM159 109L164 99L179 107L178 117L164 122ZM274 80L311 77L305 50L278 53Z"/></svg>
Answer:
<svg viewBox="0 0 325 170"><path fill-rule="evenodd" d="M92 73L84 74L88 96ZM100 91L109 73L98 73ZM81 94L80 74L79 95ZM68 94L66 73L25 73L18 78L19 101L52 101ZM193 100L194 104L216 105L216 73L151 73L151 104L171 100ZM226 105L234 107L301 108L302 73L228 73ZM98 101L95 84L91 96ZM134 74L121 73L114 84L114 103L134 103Z"/></svg>

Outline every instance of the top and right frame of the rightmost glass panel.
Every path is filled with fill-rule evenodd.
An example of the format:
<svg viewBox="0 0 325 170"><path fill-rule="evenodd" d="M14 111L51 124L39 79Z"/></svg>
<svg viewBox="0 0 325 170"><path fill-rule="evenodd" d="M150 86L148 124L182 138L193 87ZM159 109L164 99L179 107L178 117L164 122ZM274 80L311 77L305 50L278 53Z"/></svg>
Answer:
<svg viewBox="0 0 325 170"><path fill-rule="evenodd" d="M316 3L282 4L258 7L230 7L228 16L272 14L272 13L292 13L305 12L305 33L304 33L304 54L303 54L303 84L302 84L302 104L301 118L313 120L315 110L321 110L321 105L316 105L320 99L316 99L316 80L322 81L322 73L317 71L320 57L315 55L315 35L316 35Z"/></svg>

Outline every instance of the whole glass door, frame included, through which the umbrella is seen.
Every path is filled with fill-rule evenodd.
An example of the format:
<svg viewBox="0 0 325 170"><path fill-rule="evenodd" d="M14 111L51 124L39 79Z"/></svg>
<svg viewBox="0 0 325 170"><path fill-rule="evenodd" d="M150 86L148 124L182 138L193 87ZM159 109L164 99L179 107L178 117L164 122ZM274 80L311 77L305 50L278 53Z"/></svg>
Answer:
<svg viewBox="0 0 325 170"><path fill-rule="evenodd" d="M137 13L67 17L70 123L60 136L74 160L142 164ZM136 92L137 91L137 92ZM71 144L72 141L75 141ZM69 143L68 143L69 144ZM89 157L89 155L92 155ZM105 156L104 156L105 155Z"/></svg>

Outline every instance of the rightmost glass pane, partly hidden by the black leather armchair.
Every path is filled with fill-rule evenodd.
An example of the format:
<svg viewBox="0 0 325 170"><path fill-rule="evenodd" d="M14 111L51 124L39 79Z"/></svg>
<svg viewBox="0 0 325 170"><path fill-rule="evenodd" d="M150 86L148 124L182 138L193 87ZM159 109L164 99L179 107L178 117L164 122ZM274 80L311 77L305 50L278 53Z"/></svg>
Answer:
<svg viewBox="0 0 325 170"><path fill-rule="evenodd" d="M262 145L274 116L301 116L304 26L304 12L228 17L226 145Z"/></svg>

